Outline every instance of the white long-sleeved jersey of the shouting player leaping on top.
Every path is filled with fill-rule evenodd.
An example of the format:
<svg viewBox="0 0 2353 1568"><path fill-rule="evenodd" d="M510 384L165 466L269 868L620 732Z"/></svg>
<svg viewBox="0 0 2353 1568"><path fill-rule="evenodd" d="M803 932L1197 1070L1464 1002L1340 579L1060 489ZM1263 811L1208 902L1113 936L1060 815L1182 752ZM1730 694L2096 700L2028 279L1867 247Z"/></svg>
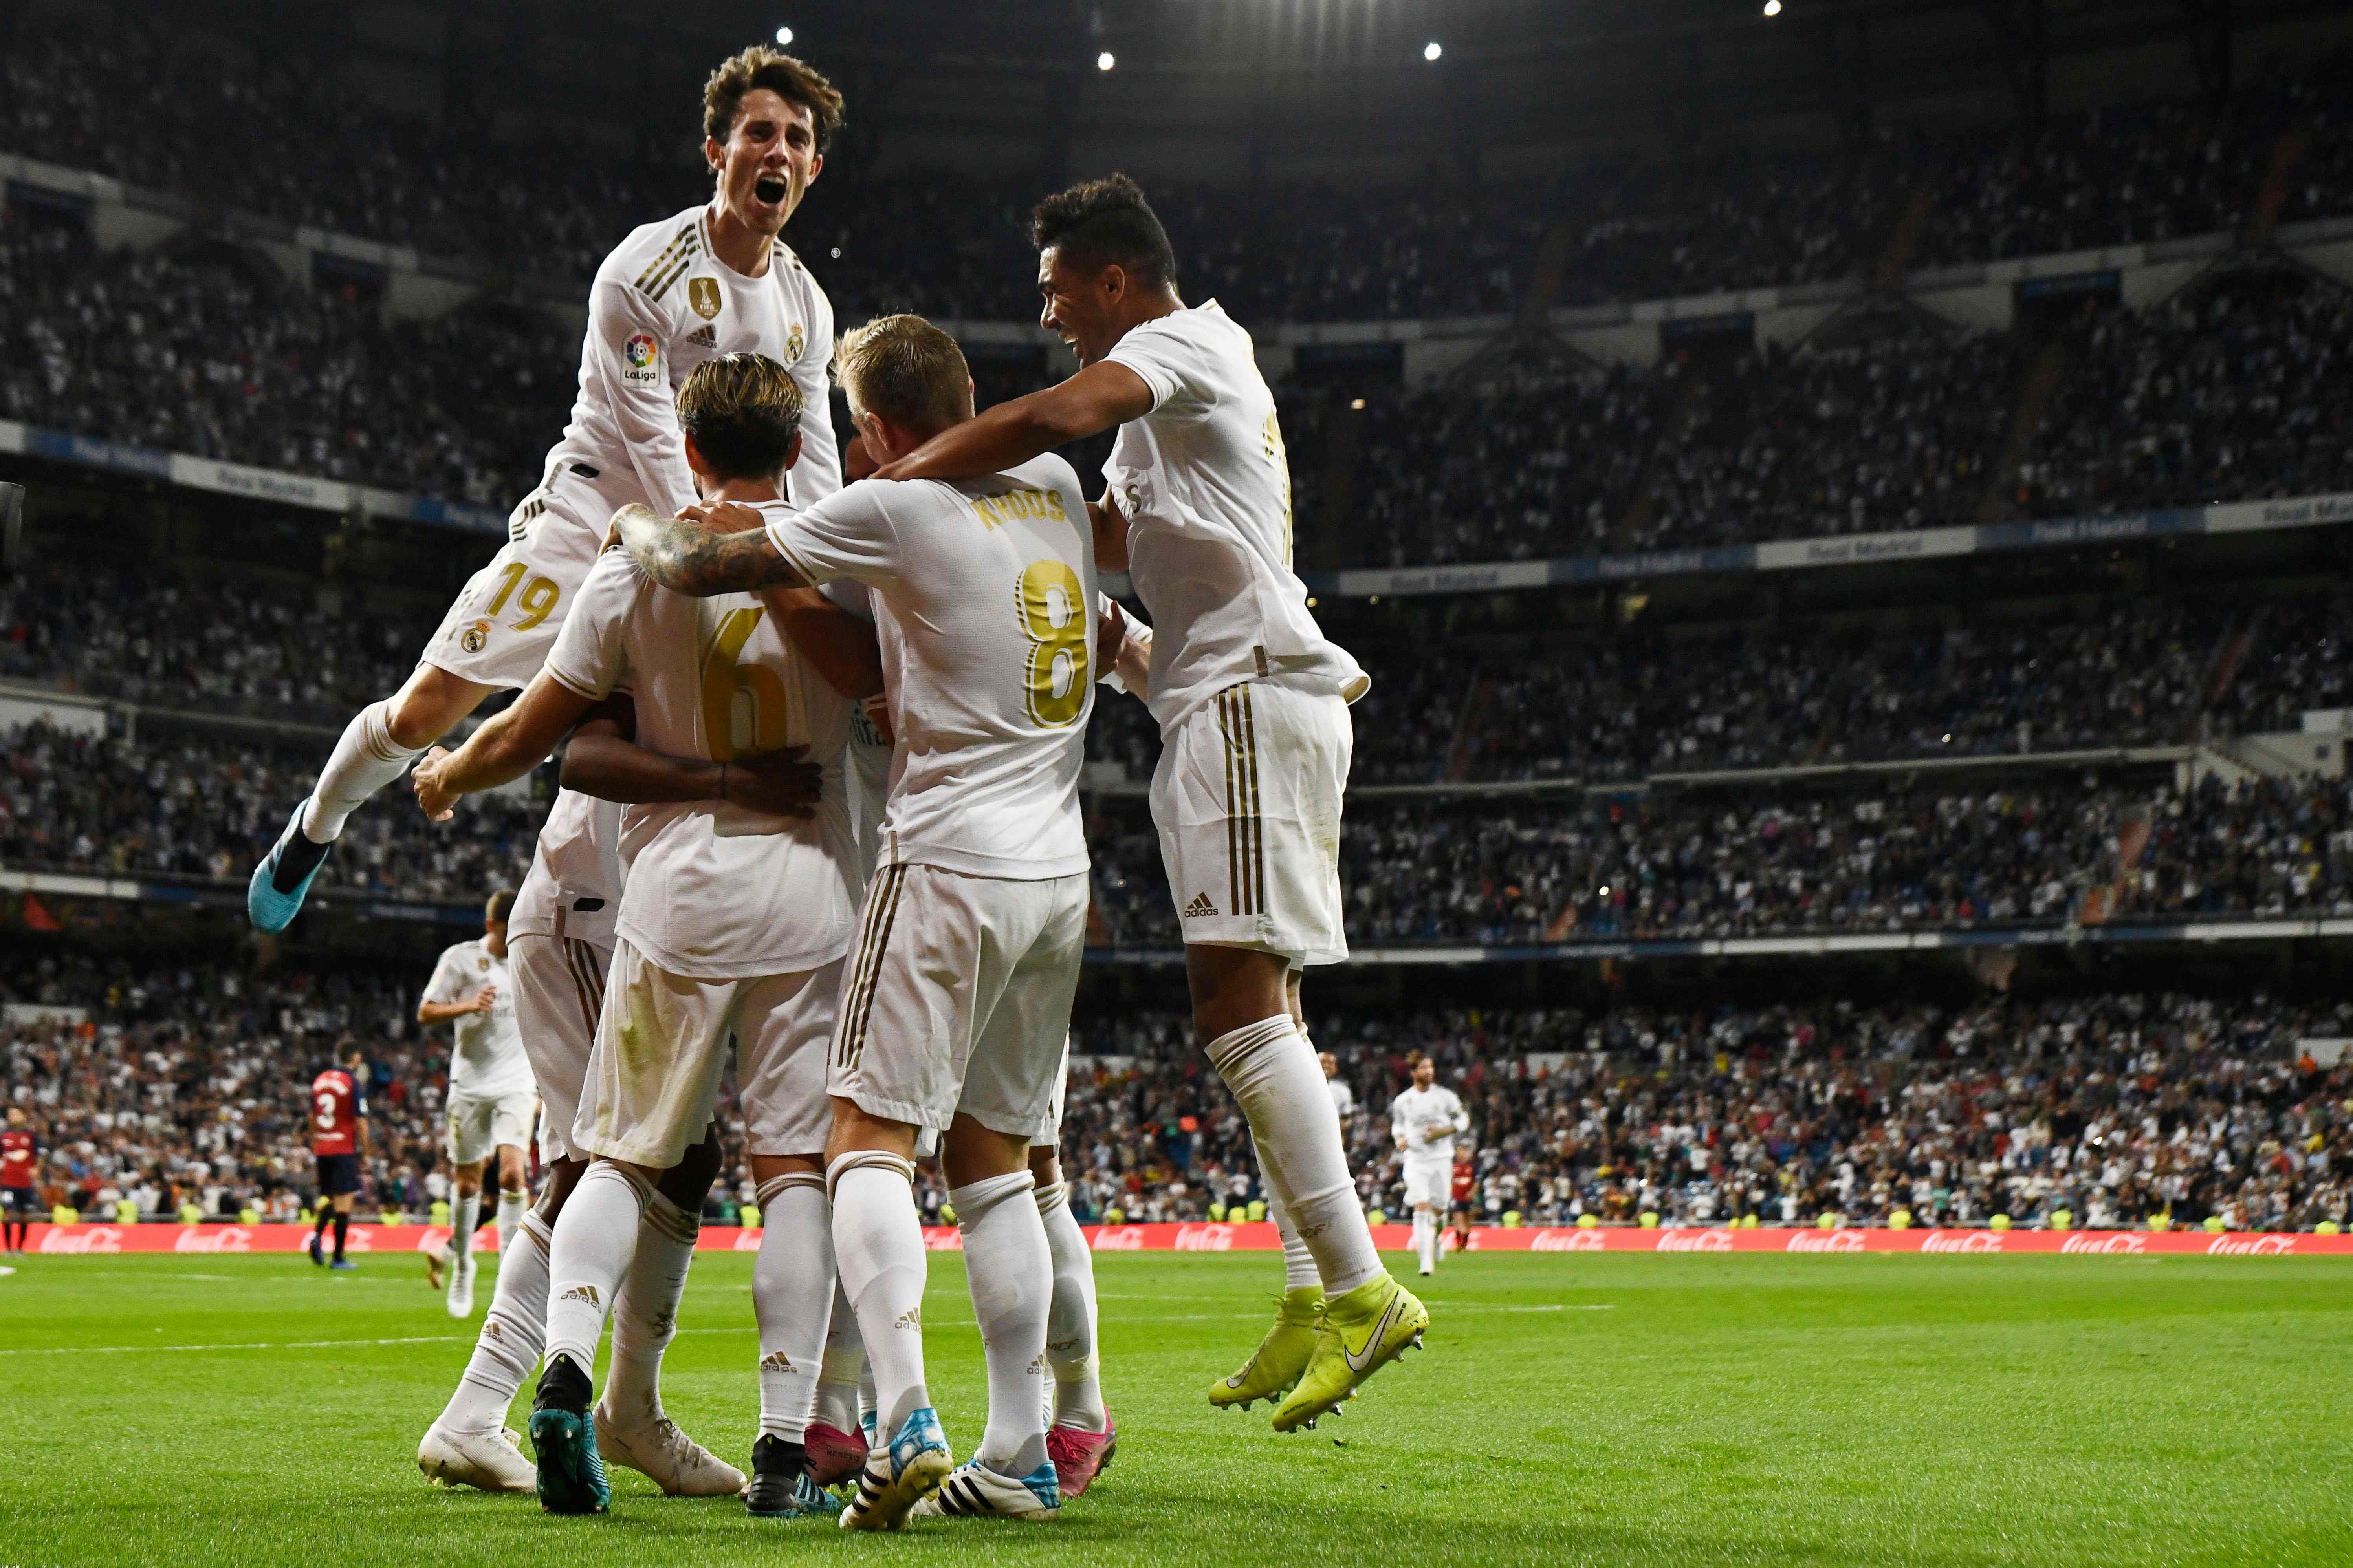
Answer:
<svg viewBox="0 0 2353 1568"><path fill-rule="evenodd" d="M833 303L776 240L767 273L746 277L711 254L711 214L689 207L631 230L588 289L581 390L548 468L593 468L602 517L640 503L664 517L694 505L678 388L715 355L760 353L800 383L800 461L791 496L807 505L842 487L826 367ZM602 527L602 517L598 527Z"/></svg>

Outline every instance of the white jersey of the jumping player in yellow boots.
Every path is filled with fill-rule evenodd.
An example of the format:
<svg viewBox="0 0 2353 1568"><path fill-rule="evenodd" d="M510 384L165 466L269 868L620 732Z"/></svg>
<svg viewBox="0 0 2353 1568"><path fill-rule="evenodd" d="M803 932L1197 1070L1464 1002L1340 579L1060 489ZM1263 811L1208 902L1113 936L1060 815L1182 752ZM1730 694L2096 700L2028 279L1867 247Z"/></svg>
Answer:
<svg viewBox="0 0 2353 1568"><path fill-rule="evenodd" d="M1365 696L1372 679L1315 625L1292 571L1292 470L1249 334L1212 299L1132 327L1106 357L1153 393L1153 411L1120 425L1104 482L1153 616L1160 731L1268 675Z"/></svg>

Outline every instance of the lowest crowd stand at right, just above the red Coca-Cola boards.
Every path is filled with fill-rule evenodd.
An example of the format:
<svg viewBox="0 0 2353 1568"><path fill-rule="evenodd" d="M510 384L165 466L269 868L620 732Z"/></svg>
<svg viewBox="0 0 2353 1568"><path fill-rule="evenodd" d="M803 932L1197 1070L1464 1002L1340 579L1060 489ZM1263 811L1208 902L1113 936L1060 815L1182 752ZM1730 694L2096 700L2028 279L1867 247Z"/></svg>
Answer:
<svg viewBox="0 0 2353 1568"><path fill-rule="evenodd" d="M1313 1009L1313 987L1311 987ZM2353 1067L2308 1039L2353 1009L2264 994L1819 1001L1605 1013L1395 1011L1313 1018L1355 1117L1367 1208L1400 1218L1388 1105L1412 1053L1471 1112L1468 1218L1525 1225L2052 1225L2219 1218L2344 1225ZM1064 1114L1073 1199L1127 1220L1247 1213L1240 1110L1174 1016L1078 1027Z"/></svg>

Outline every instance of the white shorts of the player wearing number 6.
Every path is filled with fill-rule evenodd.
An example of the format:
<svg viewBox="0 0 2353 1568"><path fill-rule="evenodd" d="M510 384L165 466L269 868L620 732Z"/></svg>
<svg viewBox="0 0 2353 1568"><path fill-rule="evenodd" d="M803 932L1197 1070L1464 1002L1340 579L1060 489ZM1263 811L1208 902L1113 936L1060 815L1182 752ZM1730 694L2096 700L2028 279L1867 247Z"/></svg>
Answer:
<svg viewBox="0 0 2353 1568"><path fill-rule="evenodd" d="M833 959L793 976L696 980L621 938L572 1147L668 1171L711 1128L732 1041L744 1152L821 1154L833 1131L826 1037L840 971Z"/></svg>

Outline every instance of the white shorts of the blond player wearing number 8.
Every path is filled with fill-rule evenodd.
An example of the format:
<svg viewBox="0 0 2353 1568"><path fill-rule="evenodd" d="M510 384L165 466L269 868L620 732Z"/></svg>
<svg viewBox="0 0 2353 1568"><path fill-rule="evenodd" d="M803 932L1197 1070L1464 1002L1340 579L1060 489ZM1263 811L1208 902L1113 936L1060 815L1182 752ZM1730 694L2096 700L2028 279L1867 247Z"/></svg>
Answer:
<svg viewBox="0 0 2353 1568"><path fill-rule="evenodd" d="M1085 875L885 865L842 973L826 1086L920 1128L944 1133L962 1112L1009 1138L1052 1138L1085 950Z"/></svg>

